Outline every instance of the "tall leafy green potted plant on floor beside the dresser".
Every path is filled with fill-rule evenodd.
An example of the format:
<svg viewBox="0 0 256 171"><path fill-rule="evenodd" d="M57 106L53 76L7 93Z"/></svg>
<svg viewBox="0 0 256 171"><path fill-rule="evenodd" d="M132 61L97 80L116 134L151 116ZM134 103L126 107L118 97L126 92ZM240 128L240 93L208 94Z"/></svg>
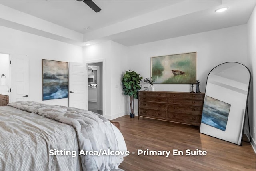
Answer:
<svg viewBox="0 0 256 171"><path fill-rule="evenodd" d="M134 98L138 99L138 91L141 89L140 81L142 77L135 71L129 70L124 73L122 86L124 95L130 96L130 117L134 118Z"/></svg>

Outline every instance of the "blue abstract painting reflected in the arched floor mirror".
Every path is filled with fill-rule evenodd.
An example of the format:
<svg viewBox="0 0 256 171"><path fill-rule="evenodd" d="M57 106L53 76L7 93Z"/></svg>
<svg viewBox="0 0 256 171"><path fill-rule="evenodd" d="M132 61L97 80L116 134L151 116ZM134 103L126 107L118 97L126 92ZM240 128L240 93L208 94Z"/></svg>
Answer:
<svg viewBox="0 0 256 171"><path fill-rule="evenodd" d="M222 131L226 130L230 104L206 95L202 113L202 123Z"/></svg>

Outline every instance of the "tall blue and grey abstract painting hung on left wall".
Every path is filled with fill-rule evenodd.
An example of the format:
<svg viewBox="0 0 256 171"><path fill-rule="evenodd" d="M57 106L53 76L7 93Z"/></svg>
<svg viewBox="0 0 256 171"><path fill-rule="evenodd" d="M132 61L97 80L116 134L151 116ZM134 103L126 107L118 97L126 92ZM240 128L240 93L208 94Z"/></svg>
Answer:
<svg viewBox="0 0 256 171"><path fill-rule="evenodd" d="M42 59L42 100L68 98L68 62Z"/></svg>

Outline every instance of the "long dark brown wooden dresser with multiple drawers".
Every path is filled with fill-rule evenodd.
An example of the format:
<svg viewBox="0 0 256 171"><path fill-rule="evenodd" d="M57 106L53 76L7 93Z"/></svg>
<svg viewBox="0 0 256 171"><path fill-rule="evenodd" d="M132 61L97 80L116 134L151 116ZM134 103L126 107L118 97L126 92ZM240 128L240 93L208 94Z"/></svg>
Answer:
<svg viewBox="0 0 256 171"><path fill-rule="evenodd" d="M204 93L139 91L140 116L200 126Z"/></svg>

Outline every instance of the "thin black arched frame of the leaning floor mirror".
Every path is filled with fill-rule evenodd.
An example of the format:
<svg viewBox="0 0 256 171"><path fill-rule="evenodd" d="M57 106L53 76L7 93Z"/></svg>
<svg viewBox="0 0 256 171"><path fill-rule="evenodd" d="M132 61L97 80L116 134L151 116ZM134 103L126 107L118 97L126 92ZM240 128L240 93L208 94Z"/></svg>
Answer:
<svg viewBox="0 0 256 171"><path fill-rule="evenodd" d="M208 131L201 130L201 128L202 128L202 119L201 119L201 125L200 125L200 133L203 133L203 134L205 134L205 135L209 135L209 136L212 136L212 137L216 137L216 138L218 138L218 139L222 139L222 140L224 140L224 141L228 141L228 142L231 142L231 143L234 143L234 144L237 144L237 145L242 145L242 142L243 142L243 135L244 135L244 125L245 125L245 120L246 120L246 113L247 113L247 115L248 115L248 97L249 97L249 91L250 91L250 84L251 84L252 74L251 74L249 68L246 67L244 64L241 64L241 63L239 63L239 62L224 62L224 63L222 63L222 64L227 64L227 63L237 63L237 64L240 64L240 65L244 66L244 67L248 70L248 73L249 73L249 75L250 75L250 78L249 78L249 81L248 81L248 91L247 91L247 97L246 97L246 103L245 103L244 117L242 118L243 120L241 121L241 125L242 125L241 131L242 131L242 132L241 132L241 134L239 135L239 138L241 139L241 141L240 141L240 143L239 143L239 142L238 142L238 143L234 143L234 142L231 142L231 141L228 141L228 140L225 140L225 139L222 139L222 138L219 138L219 137L210 135L210 134L208 133ZM206 80L206 89L205 89L205 97L204 97L204 104L205 104L205 100L206 100L206 96L207 96L208 77L209 77L209 75L211 74L211 72L212 72L215 68L217 68L218 66L220 66L220 65L222 65L222 64L219 64L219 65L215 66L214 68L212 68L212 70L209 72L209 74L208 74L208 76L207 76L207 80ZM208 97L209 97L209 96L208 96ZM225 102L224 102L224 103L225 103ZM202 115L203 115L203 112L202 112ZM248 118L248 122L249 122L249 118ZM203 123L203 124L205 124L205 123ZM207 124L206 124L206 125L207 125ZM207 126L210 126L210 125L207 125ZM217 128L216 128L216 129L217 129ZM249 129L250 129L250 127L249 127ZM205 132L207 132L207 133L205 133ZM238 140L239 140L239 139L238 139Z"/></svg>

